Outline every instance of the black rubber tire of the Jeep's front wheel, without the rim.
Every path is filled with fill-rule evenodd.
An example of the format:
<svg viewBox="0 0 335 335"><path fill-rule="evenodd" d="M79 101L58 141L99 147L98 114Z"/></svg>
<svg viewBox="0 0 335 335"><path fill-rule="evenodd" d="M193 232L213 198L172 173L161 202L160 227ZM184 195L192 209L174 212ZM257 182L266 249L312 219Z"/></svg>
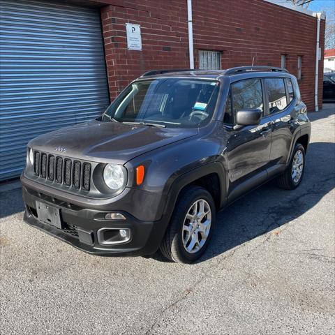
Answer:
<svg viewBox="0 0 335 335"><path fill-rule="evenodd" d="M205 200L207 204L209 204L211 209L211 225L208 237L200 250L195 253L188 253L183 244L183 225L188 210L197 200ZM168 258L168 260L172 260L173 262L188 264L195 262L195 260L198 260L206 250L215 228L215 222L216 208L211 194L200 186L188 186L185 190L181 191L176 202L170 225L165 232L165 236L163 237L160 246L161 253L163 253L165 258Z"/></svg>

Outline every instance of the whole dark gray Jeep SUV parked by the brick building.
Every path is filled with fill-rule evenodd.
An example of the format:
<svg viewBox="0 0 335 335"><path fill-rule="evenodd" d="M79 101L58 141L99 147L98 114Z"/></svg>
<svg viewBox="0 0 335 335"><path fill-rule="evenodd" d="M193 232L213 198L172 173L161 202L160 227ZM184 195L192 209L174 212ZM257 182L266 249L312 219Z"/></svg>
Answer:
<svg viewBox="0 0 335 335"><path fill-rule="evenodd" d="M269 179L299 186L310 134L282 68L149 71L98 119L29 142L24 220L89 253L194 262L216 211Z"/></svg>

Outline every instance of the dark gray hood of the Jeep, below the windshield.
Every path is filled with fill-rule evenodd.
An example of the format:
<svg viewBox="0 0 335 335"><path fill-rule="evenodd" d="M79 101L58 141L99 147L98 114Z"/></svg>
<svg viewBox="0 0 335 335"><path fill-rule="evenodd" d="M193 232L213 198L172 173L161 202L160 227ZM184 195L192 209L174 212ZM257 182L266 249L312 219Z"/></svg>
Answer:
<svg viewBox="0 0 335 335"><path fill-rule="evenodd" d="M40 135L28 146L50 154L124 164L147 151L197 134L198 128L157 128L89 121Z"/></svg>

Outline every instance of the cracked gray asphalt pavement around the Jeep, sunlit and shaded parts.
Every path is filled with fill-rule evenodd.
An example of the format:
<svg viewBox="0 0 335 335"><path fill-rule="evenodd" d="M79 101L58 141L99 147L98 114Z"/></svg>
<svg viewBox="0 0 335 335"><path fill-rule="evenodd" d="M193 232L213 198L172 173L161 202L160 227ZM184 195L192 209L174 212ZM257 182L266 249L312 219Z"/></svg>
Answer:
<svg viewBox="0 0 335 335"><path fill-rule="evenodd" d="M196 265L88 255L0 193L0 334L334 334L335 105L310 114L296 191L267 184L218 214ZM1 188L0 188L1 190Z"/></svg>

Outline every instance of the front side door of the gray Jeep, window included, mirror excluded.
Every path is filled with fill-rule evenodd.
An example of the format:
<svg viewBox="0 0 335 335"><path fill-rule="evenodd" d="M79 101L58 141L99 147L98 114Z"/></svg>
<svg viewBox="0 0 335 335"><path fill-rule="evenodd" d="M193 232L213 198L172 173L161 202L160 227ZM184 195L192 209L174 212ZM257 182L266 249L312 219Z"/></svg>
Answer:
<svg viewBox="0 0 335 335"><path fill-rule="evenodd" d="M244 126L235 130L230 127L228 131L228 201L238 198L267 179L267 164L271 149L271 120L264 114L264 105L265 94L261 79L241 80L231 85L232 124L236 113L248 108L262 110L262 119L257 126Z"/></svg>

